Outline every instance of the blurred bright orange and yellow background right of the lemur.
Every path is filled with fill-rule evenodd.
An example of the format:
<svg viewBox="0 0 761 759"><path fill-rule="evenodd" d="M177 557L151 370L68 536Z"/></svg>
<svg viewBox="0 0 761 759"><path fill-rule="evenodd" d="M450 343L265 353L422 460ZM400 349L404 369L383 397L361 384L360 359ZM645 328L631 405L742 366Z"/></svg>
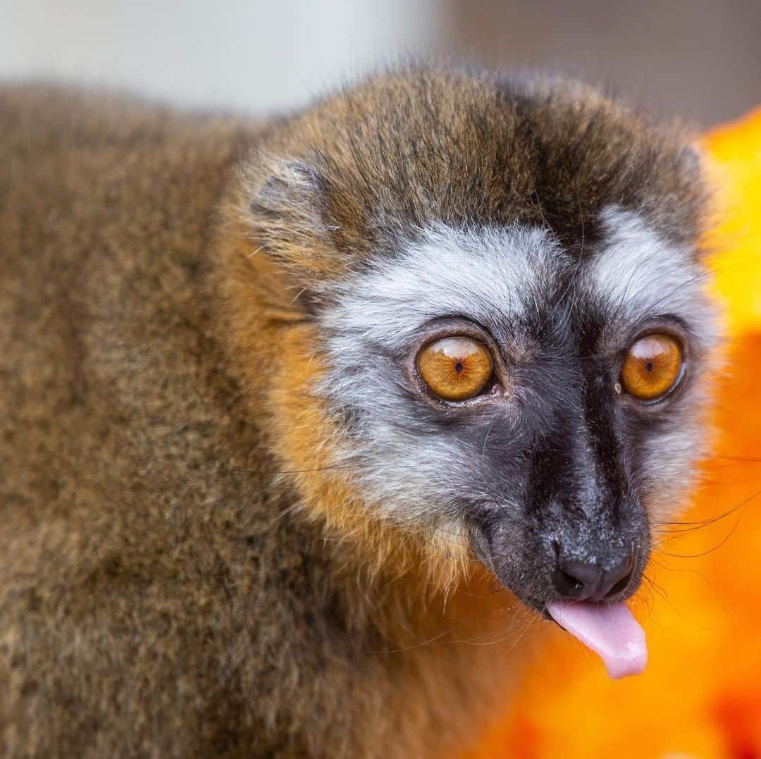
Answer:
<svg viewBox="0 0 761 759"><path fill-rule="evenodd" d="M761 759L761 109L703 146L723 208L709 241L730 356L717 455L635 603L648 669L610 681L553 628L519 693L505 694L511 708L463 759Z"/></svg>

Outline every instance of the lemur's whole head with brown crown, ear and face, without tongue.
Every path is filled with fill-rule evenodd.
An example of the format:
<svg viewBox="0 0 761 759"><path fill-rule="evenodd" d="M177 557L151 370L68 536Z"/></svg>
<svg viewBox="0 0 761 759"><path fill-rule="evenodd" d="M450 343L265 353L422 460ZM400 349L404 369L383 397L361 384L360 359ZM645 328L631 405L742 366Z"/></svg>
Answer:
<svg viewBox="0 0 761 759"><path fill-rule="evenodd" d="M416 70L286 123L247 188L345 508L538 611L632 595L704 449L693 148L567 81Z"/></svg>

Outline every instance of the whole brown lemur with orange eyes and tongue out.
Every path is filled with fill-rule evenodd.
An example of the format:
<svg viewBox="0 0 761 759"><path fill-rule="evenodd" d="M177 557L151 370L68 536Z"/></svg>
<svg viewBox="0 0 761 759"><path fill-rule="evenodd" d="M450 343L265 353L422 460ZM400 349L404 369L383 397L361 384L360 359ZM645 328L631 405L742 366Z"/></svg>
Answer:
<svg viewBox="0 0 761 759"><path fill-rule="evenodd" d="M6 757L435 757L613 677L706 446L702 160L565 78L0 91Z"/></svg>

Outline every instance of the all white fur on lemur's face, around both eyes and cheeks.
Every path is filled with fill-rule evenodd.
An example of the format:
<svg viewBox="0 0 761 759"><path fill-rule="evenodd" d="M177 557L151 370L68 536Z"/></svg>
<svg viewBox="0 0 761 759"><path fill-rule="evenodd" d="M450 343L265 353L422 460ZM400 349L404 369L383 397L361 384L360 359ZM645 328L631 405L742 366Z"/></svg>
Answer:
<svg viewBox="0 0 761 759"><path fill-rule="evenodd" d="M483 454L480 441L441 432L401 367L432 320L467 317L499 342L506 325L527 315L549 318L554 305L543 296L558 292L556 280L571 271L563 298L608 314L607 333L627 340L644 321L668 315L683 322L701 356L712 348L715 312L692 251L664 241L632 212L610 207L602 221L606 241L581 263L537 228L438 225L326 293L334 304L322 316L331 371L317 392L349 416L337 463L351 461L368 503L400 522L457 520L457 496ZM697 403L700 384L695 388ZM696 410L686 410L651 445L652 480L665 483L653 496L658 518L684 492L704 450L702 425ZM515 498L469 487L474 500L507 505Z"/></svg>

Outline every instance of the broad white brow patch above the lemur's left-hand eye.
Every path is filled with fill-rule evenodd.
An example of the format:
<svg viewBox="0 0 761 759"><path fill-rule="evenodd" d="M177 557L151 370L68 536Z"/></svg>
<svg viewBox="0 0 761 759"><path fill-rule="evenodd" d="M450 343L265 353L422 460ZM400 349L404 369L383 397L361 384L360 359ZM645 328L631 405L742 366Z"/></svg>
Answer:
<svg viewBox="0 0 761 759"><path fill-rule="evenodd" d="M567 261L537 228L438 225L398 257L379 257L369 272L332 285L337 303L323 324L334 336L401 349L437 317L462 315L482 324L516 317Z"/></svg>

